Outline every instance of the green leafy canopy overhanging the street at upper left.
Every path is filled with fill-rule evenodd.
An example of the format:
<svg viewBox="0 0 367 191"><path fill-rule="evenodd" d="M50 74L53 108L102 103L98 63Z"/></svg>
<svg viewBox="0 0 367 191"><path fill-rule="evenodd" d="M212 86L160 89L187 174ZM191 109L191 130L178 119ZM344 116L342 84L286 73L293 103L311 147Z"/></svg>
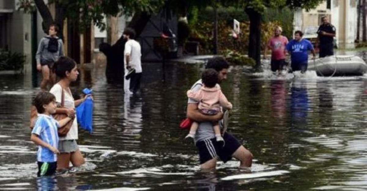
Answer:
<svg viewBox="0 0 367 191"><path fill-rule="evenodd" d="M37 8L43 19L43 30L48 34L48 27L52 23L59 25L62 31L66 18L69 22L76 22L81 31L85 27L90 27L91 23L104 30L106 28L106 24L103 22L104 15L124 14L131 16L135 13L137 17L140 17L155 12L163 3L164 0L48 0L47 4L55 5L55 17L52 17L44 0L19 0L19 9L30 12ZM131 23L131 25L135 26L136 24Z"/></svg>

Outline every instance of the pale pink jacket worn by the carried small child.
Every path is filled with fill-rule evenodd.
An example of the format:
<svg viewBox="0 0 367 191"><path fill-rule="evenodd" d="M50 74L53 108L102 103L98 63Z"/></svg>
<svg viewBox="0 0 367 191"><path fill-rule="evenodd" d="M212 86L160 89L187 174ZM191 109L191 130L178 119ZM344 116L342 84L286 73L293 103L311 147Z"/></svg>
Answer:
<svg viewBox="0 0 367 191"><path fill-rule="evenodd" d="M214 87L202 86L199 91L187 91L187 97L199 101L199 109L214 109L220 111L220 106L232 109L232 104L227 100L217 84Z"/></svg>

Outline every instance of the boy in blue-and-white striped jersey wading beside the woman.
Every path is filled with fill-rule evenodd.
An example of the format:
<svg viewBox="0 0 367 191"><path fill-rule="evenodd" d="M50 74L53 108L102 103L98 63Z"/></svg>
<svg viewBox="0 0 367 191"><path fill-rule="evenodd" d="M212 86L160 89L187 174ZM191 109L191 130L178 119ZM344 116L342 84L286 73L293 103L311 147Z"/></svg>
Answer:
<svg viewBox="0 0 367 191"><path fill-rule="evenodd" d="M40 91L33 101L39 113L34 124L30 140L38 145L37 176L51 176L56 172L57 150L59 136L57 128L64 126L70 121L72 116L56 121L51 114L56 112L56 98L54 94L47 91Z"/></svg>

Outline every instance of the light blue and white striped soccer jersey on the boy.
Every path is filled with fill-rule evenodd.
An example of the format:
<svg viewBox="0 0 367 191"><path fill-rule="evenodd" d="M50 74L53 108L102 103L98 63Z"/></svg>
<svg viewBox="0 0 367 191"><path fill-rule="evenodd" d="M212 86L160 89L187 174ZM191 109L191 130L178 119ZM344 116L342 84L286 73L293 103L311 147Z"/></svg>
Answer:
<svg viewBox="0 0 367 191"><path fill-rule="evenodd" d="M57 134L58 127L59 123L52 116L38 114L32 133L38 135L42 141L57 148L59 143L59 136ZM55 162L57 161L57 155L48 148L38 146L37 161Z"/></svg>

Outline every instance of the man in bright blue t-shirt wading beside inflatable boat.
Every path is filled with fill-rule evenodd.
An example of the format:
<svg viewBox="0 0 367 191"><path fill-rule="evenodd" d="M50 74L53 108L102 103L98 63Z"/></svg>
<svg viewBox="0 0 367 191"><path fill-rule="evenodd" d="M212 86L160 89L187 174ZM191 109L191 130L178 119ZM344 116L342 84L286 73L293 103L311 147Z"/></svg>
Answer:
<svg viewBox="0 0 367 191"><path fill-rule="evenodd" d="M295 31L294 40L287 44L287 51L291 55L291 67L292 71L299 71L304 73L307 71L308 65L308 50L311 50L313 57L316 58L315 50L310 41L302 39L302 31Z"/></svg>

